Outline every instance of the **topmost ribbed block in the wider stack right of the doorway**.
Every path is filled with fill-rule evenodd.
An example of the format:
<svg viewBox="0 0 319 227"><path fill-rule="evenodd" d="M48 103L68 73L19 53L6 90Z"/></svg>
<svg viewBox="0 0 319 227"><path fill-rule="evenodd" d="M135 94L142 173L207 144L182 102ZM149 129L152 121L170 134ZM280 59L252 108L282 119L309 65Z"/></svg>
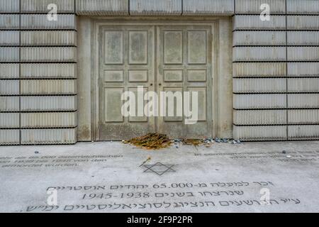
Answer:
<svg viewBox="0 0 319 227"><path fill-rule="evenodd" d="M268 4L272 14L286 13L286 0L235 0L236 13L257 13L260 14L262 4Z"/></svg>

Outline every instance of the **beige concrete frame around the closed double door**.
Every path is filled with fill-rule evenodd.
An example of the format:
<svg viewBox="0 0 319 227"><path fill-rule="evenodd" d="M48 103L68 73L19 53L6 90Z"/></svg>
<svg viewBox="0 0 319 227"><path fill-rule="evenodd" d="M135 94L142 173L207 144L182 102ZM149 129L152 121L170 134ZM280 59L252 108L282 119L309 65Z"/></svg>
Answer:
<svg viewBox="0 0 319 227"><path fill-rule="evenodd" d="M96 18L91 21L91 139L99 141L99 31L101 26L211 26L211 66L212 66L212 128L213 137L217 135L217 77L219 65L219 23L218 18ZM155 29L156 30L156 29ZM155 31L155 43L157 33ZM156 55L156 53L155 53ZM155 59L155 62L157 60ZM157 65L155 64L155 67ZM156 72L157 70L155 70Z"/></svg>

